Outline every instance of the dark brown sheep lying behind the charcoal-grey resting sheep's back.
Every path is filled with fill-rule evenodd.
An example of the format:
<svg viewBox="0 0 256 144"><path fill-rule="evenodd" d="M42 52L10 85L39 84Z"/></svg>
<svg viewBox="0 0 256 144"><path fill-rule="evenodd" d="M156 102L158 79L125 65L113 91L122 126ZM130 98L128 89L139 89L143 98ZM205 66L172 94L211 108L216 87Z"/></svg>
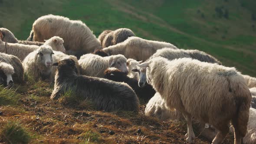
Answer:
<svg viewBox="0 0 256 144"><path fill-rule="evenodd" d="M137 79L129 78L125 72L121 72L121 70L116 68L106 69L104 72L104 78L115 82L127 83L135 91L138 98L141 98L144 101L148 101L155 94L155 90L151 85L145 85L143 88L140 88L138 86Z"/></svg>

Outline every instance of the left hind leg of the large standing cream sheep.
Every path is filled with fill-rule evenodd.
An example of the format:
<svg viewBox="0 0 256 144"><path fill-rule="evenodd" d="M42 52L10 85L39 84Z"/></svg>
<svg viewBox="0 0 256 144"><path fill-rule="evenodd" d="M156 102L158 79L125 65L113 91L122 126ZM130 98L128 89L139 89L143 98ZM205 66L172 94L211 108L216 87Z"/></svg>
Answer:
<svg viewBox="0 0 256 144"><path fill-rule="evenodd" d="M224 138L226 137L226 134L229 132L229 127L228 125L221 125L221 124L214 127L219 129L220 131L218 132L216 137L213 139L212 144L221 144Z"/></svg>

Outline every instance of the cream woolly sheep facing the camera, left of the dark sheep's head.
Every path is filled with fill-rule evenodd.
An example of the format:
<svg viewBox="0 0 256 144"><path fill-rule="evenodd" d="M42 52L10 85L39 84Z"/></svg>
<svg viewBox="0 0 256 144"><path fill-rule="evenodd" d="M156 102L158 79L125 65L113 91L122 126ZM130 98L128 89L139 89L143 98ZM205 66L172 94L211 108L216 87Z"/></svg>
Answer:
<svg viewBox="0 0 256 144"><path fill-rule="evenodd" d="M53 57L53 49L50 46L41 46L31 52L23 60L25 73L33 76L36 81L39 79L53 81L56 68L52 66L56 62Z"/></svg>

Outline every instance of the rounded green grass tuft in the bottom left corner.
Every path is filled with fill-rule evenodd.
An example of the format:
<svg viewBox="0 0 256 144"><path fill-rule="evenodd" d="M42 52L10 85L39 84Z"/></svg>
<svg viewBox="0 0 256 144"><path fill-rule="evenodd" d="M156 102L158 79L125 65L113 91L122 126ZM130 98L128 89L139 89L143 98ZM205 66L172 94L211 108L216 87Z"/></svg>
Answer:
<svg viewBox="0 0 256 144"><path fill-rule="evenodd" d="M17 121L7 121L0 132L0 138L7 144L28 144L32 134Z"/></svg>

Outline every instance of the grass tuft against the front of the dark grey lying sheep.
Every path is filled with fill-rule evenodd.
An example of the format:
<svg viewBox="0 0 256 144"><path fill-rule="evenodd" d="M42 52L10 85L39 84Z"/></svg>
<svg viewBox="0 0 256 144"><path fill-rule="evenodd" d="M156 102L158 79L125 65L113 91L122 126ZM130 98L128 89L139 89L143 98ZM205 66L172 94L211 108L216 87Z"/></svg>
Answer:
<svg viewBox="0 0 256 144"><path fill-rule="evenodd" d="M92 101L88 98L83 98L75 94L75 92L68 88L63 95L60 96L59 102L62 105L67 105L75 108L93 109Z"/></svg>

